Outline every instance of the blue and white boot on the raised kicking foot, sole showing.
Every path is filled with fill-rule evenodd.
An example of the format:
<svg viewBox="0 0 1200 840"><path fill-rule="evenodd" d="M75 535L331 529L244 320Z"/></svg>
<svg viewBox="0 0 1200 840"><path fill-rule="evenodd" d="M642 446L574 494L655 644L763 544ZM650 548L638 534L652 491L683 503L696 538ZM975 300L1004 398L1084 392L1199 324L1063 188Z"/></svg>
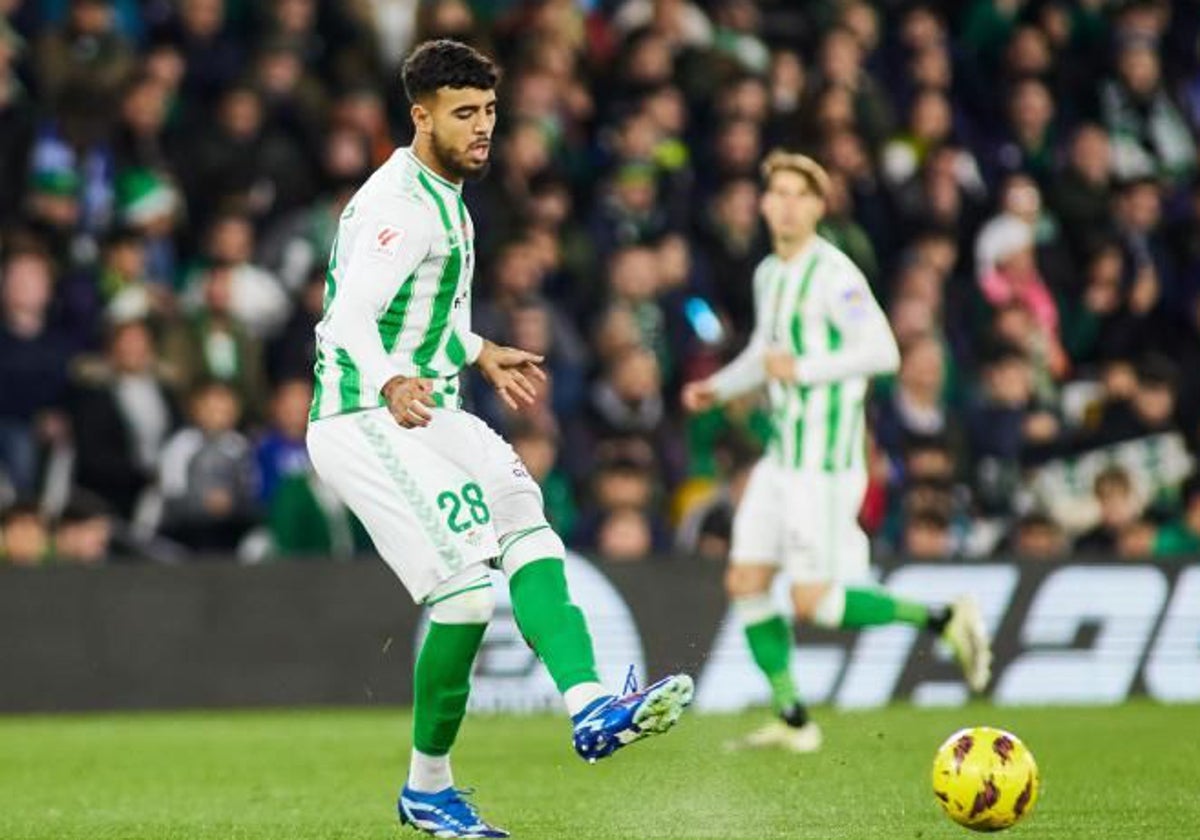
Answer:
<svg viewBox="0 0 1200 840"><path fill-rule="evenodd" d="M642 691L630 667L624 695L599 697L575 715L575 751L595 762L653 734L667 732L691 704L696 689L691 677L664 677Z"/></svg>

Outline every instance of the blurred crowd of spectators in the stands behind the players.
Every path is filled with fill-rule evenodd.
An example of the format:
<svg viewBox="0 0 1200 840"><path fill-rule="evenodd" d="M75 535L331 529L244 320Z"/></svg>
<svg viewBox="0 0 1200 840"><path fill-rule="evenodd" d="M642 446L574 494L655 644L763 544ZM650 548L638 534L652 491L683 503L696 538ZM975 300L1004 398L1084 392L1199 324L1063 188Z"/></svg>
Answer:
<svg viewBox="0 0 1200 840"><path fill-rule="evenodd" d="M370 550L305 452L312 330L442 36L505 70L475 329L550 373L469 403L569 545L727 553L769 422L678 394L752 326L782 145L902 350L877 552L1200 551L1192 2L0 0L0 563Z"/></svg>

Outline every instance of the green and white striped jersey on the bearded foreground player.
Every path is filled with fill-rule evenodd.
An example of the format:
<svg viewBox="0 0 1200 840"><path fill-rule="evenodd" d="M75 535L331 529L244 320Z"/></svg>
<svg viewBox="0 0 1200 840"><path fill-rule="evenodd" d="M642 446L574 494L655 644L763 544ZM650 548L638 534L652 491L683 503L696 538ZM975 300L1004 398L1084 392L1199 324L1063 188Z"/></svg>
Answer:
<svg viewBox="0 0 1200 840"><path fill-rule="evenodd" d="M461 404L458 373L484 341L470 331L474 227L462 188L398 149L342 212L317 325L310 419L385 404L391 377L434 380Z"/></svg>

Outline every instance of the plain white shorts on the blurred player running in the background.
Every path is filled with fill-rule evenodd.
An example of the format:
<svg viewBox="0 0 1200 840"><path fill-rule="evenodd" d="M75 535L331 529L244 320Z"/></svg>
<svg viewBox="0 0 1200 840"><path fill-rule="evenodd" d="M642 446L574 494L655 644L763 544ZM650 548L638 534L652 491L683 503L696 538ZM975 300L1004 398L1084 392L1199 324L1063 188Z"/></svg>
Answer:
<svg viewBox="0 0 1200 840"><path fill-rule="evenodd" d="M733 516L731 562L780 566L793 583L865 578L870 542L858 524L865 492L863 470L799 472L761 460Z"/></svg>

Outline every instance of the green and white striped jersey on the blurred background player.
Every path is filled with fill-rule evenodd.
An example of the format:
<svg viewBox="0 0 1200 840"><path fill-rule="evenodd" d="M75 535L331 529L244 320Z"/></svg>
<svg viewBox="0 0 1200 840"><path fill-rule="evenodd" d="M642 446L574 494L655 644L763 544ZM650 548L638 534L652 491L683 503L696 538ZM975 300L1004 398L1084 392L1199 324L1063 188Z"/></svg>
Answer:
<svg viewBox="0 0 1200 840"><path fill-rule="evenodd" d="M895 370L899 352L862 271L824 239L755 270L755 329L745 350L713 377L728 400L767 383L768 457L797 470L865 469L869 377ZM788 349L796 383L767 382L763 354Z"/></svg>

